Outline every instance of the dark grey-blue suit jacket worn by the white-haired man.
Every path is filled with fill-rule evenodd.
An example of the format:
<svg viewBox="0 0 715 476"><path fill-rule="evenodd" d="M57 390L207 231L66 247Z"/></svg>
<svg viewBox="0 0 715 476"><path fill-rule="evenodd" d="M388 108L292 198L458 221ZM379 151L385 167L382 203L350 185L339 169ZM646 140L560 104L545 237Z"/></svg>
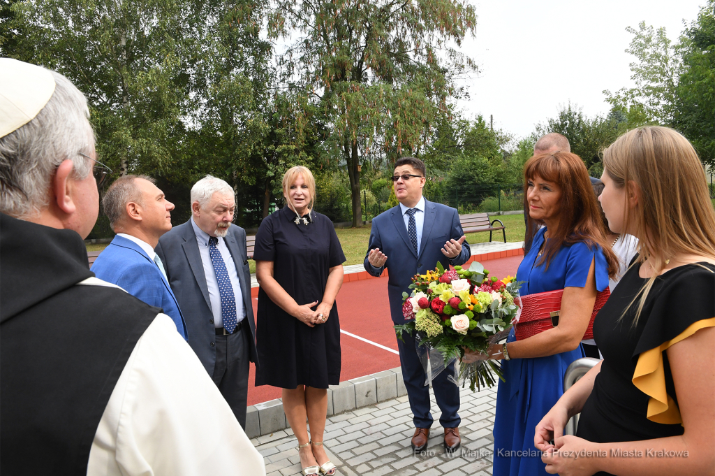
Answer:
<svg viewBox="0 0 715 476"><path fill-rule="evenodd" d="M248 355L250 360L255 362L257 361L256 324L251 305L251 274L246 253L246 232L240 226L231 225L225 240L241 283L246 319L251 330ZM189 346L194 349L209 375L213 375L216 364L214 316L209 301L209 288L204 276L204 265L199 253L199 243L196 241L191 219L189 218L189 221L183 225L174 226L169 233L159 238L159 244L154 251L159 258L162 258L167 268L169 284L179 300L184 315L187 316Z"/></svg>

